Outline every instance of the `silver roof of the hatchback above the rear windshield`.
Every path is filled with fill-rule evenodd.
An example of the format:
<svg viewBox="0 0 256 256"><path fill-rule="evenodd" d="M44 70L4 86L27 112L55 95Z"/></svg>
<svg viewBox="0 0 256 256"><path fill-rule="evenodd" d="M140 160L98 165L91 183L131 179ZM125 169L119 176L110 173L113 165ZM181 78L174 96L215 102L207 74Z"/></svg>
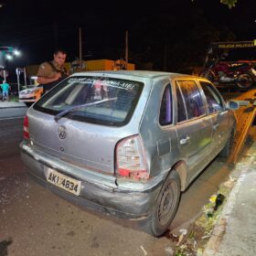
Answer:
<svg viewBox="0 0 256 256"><path fill-rule="evenodd" d="M148 70L117 70L117 71L86 71L86 72L78 72L72 74L72 76L88 76L88 75L118 75L118 76L133 76L140 78L148 78L155 79L159 77L191 77L191 75L172 73L172 72L164 72L164 71L148 71Z"/></svg>

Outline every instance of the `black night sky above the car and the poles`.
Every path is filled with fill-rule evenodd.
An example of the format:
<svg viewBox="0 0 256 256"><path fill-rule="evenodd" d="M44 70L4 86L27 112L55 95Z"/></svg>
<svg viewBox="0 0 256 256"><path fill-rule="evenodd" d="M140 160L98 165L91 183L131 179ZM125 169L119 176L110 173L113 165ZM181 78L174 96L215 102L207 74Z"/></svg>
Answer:
<svg viewBox="0 0 256 256"><path fill-rule="evenodd" d="M79 27L83 59L124 58L128 30L129 61L153 62L155 69L163 68L165 50L168 69L180 69L180 63L200 64L210 41L256 38L255 0L238 0L231 9L219 0L0 3L0 44L23 53L10 66L52 59L55 48L65 48L68 60L75 59Z"/></svg>

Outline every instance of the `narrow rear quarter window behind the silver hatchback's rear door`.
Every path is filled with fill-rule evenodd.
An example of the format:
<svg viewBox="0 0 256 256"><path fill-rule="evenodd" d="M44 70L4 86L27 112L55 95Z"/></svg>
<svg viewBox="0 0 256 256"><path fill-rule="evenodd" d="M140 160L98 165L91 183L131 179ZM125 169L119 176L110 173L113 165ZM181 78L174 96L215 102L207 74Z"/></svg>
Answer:
<svg viewBox="0 0 256 256"><path fill-rule="evenodd" d="M170 84L165 87L165 91L163 94L161 107L160 107L160 115L159 115L159 123L161 125L168 125L173 123L173 108L172 108L172 92Z"/></svg>

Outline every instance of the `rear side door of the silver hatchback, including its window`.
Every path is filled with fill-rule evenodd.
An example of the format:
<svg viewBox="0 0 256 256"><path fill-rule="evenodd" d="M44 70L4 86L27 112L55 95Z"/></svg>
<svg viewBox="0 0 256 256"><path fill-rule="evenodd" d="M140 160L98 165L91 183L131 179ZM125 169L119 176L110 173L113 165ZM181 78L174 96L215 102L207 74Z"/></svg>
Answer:
<svg viewBox="0 0 256 256"><path fill-rule="evenodd" d="M176 81L176 102L178 146L187 162L188 179L191 180L208 165L212 123L195 80Z"/></svg>

